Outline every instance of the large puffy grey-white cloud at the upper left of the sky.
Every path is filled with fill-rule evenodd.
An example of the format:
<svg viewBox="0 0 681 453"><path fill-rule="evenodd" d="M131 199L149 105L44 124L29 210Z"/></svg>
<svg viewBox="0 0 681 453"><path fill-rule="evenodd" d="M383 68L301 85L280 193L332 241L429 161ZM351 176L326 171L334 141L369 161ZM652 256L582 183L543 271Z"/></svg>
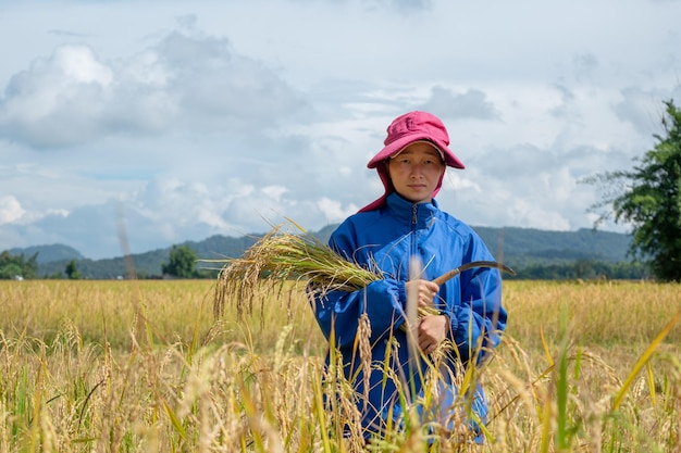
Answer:
<svg viewBox="0 0 681 453"><path fill-rule="evenodd" d="M302 106L284 81L226 39L173 32L113 62L83 45L35 60L0 99L0 134L52 148L119 134L252 131Z"/></svg>

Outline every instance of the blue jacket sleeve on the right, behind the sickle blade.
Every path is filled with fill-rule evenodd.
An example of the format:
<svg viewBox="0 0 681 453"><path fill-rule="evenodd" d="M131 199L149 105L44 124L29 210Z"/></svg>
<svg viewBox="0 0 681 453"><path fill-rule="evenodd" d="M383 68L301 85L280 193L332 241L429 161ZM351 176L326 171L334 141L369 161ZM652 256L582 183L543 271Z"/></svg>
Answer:
<svg viewBox="0 0 681 453"><path fill-rule="evenodd" d="M465 262L493 260L482 240L473 235ZM453 340L463 362L475 356L480 363L496 348L506 328L507 313L502 305L502 275L495 268L473 268L460 275L460 300L448 304Z"/></svg>

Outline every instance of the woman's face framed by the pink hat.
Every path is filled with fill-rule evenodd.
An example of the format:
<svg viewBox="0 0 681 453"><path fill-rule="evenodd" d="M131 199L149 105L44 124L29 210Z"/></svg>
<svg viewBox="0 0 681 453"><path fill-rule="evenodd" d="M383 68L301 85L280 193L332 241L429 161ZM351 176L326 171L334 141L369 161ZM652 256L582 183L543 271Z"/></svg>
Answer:
<svg viewBox="0 0 681 453"><path fill-rule="evenodd" d="M430 202L445 172L439 151L418 141L387 162L387 173L397 193L412 203Z"/></svg>

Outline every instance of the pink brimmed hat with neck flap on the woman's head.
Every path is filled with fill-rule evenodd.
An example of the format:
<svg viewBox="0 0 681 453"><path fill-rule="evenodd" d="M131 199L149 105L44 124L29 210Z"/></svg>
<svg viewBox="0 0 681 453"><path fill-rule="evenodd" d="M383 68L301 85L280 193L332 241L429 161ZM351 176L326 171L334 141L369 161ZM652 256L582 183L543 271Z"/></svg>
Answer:
<svg viewBox="0 0 681 453"><path fill-rule="evenodd" d="M376 168L381 181L385 187L385 193L369 203L359 212L373 211L381 207L385 203L385 199L395 191L393 183L387 174L385 161L399 154L405 148L414 141L429 141L439 151L445 164L454 168L465 168L463 163L448 148L449 135L445 125L439 118L428 112L409 112L396 117L387 127L387 137L383 141L385 146L371 161L367 164L369 168ZM443 173L444 176L444 173ZM437 187L433 191L433 197L437 194L442 187L442 178L437 183Z"/></svg>

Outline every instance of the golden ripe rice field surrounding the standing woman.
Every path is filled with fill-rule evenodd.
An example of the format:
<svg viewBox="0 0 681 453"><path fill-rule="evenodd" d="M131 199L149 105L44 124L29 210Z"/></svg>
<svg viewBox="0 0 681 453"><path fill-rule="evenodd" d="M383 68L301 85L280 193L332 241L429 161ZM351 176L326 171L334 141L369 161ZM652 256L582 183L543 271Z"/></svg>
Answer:
<svg viewBox="0 0 681 453"><path fill-rule="evenodd" d="M215 322L211 280L0 281L0 452L681 452L681 286L506 281L483 445L364 445L323 407L294 285Z"/></svg>

